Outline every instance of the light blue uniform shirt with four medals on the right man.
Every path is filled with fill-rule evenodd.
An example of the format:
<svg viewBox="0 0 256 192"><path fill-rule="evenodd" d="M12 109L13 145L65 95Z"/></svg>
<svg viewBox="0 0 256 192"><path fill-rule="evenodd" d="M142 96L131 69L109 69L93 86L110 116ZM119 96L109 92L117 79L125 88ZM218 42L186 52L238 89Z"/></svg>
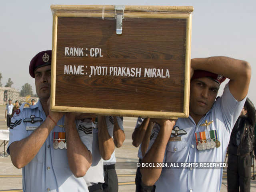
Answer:
<svg viewBox="0 0 256 192"><path fill-rule="evenodd" d="M228 84L224 88L221 98L216 100L212 109L196 125L194 120L179 118L174 127L178 126L187 134L181 136L181 141L169 141L164 162L200 163L224 162L226 148L230 139L232 128L242 111L246 98L241 102L234 99ZM220 147L214 149L197 150L196 132L206 131L206 126L200 126L213 120L208 130L218 130ZM154 127L154 137L150 140L150 147L154 143L160 127ZM156 184L156 192L219 192L222 181L222 169L168 169L163 168Z"/></svg>

